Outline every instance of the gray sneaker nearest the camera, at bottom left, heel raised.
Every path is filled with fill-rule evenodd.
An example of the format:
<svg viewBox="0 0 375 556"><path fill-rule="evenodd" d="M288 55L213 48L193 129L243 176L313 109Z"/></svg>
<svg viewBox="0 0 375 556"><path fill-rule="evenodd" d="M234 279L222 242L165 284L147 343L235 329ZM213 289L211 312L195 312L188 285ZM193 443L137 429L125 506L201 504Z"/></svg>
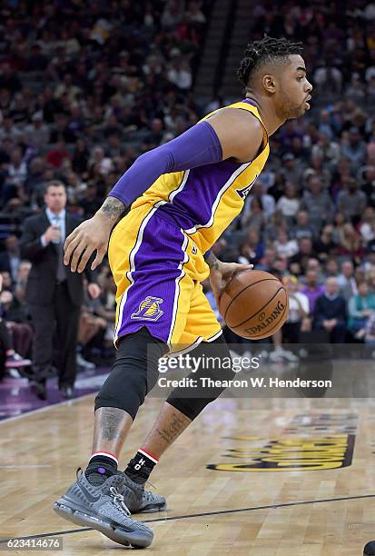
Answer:
<svg viewBox="0 0 375 556"><path fill-rule="evenodd" d="M77 481L64 496L54 502L54 511L65 520L93 527L112 541L125 546L150 546L153 531L144 523L131 518L120 493L122 485L122 473L109 477L100 486L93 486L87 481L82 469L78 470Z"/></svg>

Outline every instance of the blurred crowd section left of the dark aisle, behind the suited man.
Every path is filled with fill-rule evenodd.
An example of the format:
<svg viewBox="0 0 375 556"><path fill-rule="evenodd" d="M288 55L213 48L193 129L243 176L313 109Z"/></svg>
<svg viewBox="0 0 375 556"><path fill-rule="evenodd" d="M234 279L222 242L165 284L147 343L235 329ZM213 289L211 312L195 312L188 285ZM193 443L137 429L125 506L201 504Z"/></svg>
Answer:
<svg viewBox="0 0 375 556"><path fill-rule="evenodd" d="M0 6L0 343L5 368L29 363L25 304L30 263L22 222L52 179L71 213L88 218L137 155L199 119L193 74L211 2L17 1ZM106 264L98 300L86 296L77 362L111 354L114 283ZM3 332L2 332L3 331Z"/></svg>

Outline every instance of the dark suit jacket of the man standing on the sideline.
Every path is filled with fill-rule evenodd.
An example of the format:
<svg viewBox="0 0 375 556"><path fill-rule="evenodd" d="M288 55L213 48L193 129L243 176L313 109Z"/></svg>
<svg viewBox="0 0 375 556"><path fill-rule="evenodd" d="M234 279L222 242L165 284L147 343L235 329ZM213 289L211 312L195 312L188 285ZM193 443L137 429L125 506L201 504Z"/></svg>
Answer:
<svg viewBox="0 0 375 556"><path fill-rule="evenodd" d="M66 236L80 223L81 220L65 213ZM26 284L27 303L47 305L54 299L59 246L48 243L44 247L40 239L50 225L45 212L30 216L24 223L24 233L20 240L21 256L32 263ZM65 269L71 301L74 305L81 305L84 297L83 274L72 273L69 266L65 266ZM89 282L94 282L92 271L86 268L84 273Z"/></svg>

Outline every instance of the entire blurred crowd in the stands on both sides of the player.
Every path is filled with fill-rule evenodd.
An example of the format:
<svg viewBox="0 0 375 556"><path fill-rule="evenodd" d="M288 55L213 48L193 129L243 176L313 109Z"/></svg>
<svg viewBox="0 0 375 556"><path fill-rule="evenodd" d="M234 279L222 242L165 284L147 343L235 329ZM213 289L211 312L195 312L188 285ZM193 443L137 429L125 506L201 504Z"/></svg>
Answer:
<svg viewBox="0 0 375 556"><path fill-rule="evenodd" d="M16 324L28 323L29 263L20 260L17 235L42 207L45 184L61 180L69 210L90 217L139 154L238 100L202 105L192 94L211 9L210 0L2 3L1 313L15 323L22 356L29 340L25 330L19 340ZM313 100L310 113L271 137L270 161L214 251L287 284L293 301L283 341L321 330L331 342L374 342L375 5L263 0L249 21L250 39L303 41ZM82 316L83 350L110 344L105 264L100 280L103 295L87 299Z"/></svg>

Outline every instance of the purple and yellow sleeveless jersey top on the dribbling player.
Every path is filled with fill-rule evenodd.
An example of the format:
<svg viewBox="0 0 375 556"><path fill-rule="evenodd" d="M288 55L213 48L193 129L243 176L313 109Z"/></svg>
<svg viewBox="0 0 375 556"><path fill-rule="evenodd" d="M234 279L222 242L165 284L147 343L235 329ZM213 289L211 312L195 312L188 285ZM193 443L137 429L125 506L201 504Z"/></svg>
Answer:
<svg viewBox="0 0 375 556"><path fill-rule="evenodd" d="M262 123L258 109L251 101L243 100L230 107L247 110ZM202 121L219 110L206 115ZM263 130L262 147L254 160L240 164L227 159L218 164L163 174L134 201L132 209L143 204L157 207L158 212L172 217L205 253L241 213L246 195L267 162L270 147L264 125ZM246 137L243 140L246 141Z"/></svg>

